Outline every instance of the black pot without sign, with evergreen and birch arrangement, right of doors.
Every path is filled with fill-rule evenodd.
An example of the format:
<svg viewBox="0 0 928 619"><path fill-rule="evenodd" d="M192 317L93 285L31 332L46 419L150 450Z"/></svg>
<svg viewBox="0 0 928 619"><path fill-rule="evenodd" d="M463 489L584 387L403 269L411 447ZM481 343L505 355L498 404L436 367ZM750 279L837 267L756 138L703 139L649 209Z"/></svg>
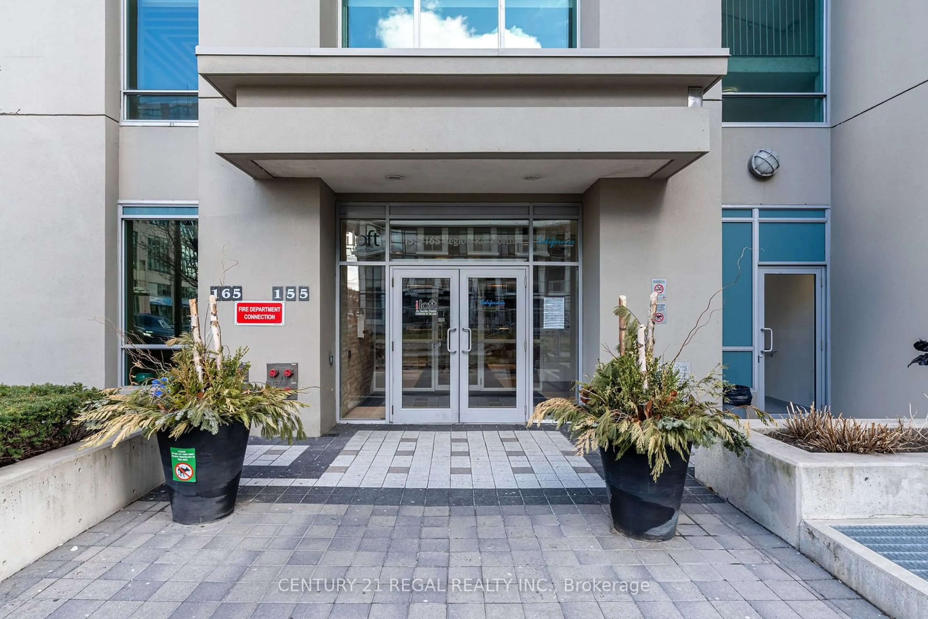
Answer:
<svg viewBox="0 0 928 619"><path fill-rule="evenodd" d="M618 355L600 362L588 382L578 383L581 401L542 402L529 420L531 425L553 419L559 428L569 424L580 455L599 450L613 525L642 539L675 535L694 446L721 442L739 456L748 446L747 427L722 407L725 383L719 369L697 380L682 375L673 361L654 356L656 303L652 294L645 327L620 297Z"/></svg>

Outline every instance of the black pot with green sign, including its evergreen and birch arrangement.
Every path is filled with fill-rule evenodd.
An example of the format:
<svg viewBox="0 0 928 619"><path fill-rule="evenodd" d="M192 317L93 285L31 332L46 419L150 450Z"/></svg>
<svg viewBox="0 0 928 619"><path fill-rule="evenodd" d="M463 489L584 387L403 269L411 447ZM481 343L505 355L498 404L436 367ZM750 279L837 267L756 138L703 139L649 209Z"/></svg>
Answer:
<svg viewBox="0 0 928 619"><path fill-rule="evenodd" d="M305 439L301 406L290 390L247 381L247 348L226 355L215 297L210 297L213 346L200 338L197 303L190 301L191 332L171 345L180 348L161 377L135 389L110 389L80 421L95 433L87 445L110 438L113 445L137 430L158 437L161 464L176 522L210 522L235 509L238 481L252 426L264 438L292 444ZM156 359L147 359L159 367Z"/></svg>

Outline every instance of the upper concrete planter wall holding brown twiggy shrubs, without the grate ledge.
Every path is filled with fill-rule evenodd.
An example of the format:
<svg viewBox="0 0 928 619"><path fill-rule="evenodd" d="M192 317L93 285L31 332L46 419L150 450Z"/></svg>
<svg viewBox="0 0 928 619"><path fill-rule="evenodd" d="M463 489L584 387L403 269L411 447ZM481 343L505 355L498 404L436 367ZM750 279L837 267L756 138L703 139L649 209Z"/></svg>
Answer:
<svg viewBox="0 0 928 619"><path fill-rule="evenodd" d="M804 521L928 517L928 453L815 454L753 425L742 458L700 450L696 478L793 547Z"/></svg>

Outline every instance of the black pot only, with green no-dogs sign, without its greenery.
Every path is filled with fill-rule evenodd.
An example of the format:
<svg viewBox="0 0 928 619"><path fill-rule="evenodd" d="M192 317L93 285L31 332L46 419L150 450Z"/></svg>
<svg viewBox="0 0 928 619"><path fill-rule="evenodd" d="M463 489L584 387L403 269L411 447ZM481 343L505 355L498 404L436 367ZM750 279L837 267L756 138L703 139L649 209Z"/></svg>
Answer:
<svg viewBox="0 0 928 619"><path fill-rule="evenodd" d="M244 423L220 426L217 434L194 430L176 439L169 438L168 432L158 432L174 522L213 522L232 513L248 434Z"/></svg>

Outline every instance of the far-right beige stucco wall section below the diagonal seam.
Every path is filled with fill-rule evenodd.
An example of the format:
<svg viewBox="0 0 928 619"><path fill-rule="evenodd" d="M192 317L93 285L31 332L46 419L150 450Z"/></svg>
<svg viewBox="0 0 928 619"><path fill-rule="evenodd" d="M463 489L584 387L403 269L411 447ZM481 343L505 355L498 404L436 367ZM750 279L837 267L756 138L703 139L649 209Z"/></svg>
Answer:
<svg viewBox="0 0 928 619"><path fill-rule="evenodd" d="M928 85L831 133L831 394L857 416L928 410Z"/></svg>

